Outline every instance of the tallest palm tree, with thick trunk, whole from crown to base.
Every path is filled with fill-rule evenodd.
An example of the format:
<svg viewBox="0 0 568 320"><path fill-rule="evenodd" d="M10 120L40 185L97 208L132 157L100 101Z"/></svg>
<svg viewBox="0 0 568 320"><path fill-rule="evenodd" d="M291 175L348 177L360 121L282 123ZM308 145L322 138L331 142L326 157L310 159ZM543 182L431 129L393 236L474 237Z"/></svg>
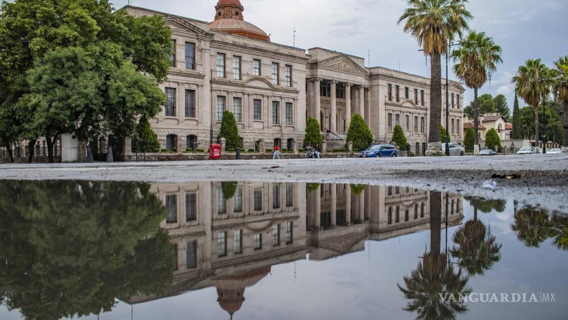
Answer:
<svg viewBox="0 0 568 320"><path fill-rule="evenodd" d="M404 32L416 38L424 54L431 60L430 127L428 154L441 154L442 75L440 56L448 54L448 43L468 30L467 20L473 18L466 10L467 0L407 0L408 8L398 23Z"/></svg>

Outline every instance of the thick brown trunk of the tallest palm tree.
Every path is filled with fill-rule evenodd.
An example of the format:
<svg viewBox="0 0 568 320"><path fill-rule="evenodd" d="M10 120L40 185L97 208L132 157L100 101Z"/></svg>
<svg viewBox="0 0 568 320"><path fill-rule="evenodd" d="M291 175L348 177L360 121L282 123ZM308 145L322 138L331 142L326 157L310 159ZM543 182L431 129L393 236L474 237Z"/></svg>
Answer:
<svg viewBox="0 0 568 320"><path fill-rule="evenodd" d="M437 143L437 147L441 147L442 67L440 64L440 52L433 52L430 60L430 130L428 143Z"/></svg>

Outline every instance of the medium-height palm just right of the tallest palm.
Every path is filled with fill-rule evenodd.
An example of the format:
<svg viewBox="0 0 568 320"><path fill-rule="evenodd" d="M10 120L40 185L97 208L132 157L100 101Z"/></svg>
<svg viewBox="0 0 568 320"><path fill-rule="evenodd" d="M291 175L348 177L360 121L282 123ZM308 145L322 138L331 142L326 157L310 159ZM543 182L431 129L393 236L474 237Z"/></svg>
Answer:
<svg viewBox="0 0 568 320"><path fill-rule="evenodd" d="M491 75L497 70L497 64L502 63L501 47L495 44L493 39L485 32L471 31L461 48L453 52L454 61L459 61L454 65L454 72L467 87L474 92L474 116L473 126L475 130L474 145L479 145L479 100L477 91L486 83L491 81Z"/></svg>

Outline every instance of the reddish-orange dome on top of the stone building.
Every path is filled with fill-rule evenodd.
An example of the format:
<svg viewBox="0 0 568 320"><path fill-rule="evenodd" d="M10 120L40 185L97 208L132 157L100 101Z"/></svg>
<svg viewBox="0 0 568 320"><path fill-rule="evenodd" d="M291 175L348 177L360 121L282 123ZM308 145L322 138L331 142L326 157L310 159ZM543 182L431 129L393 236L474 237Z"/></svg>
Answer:
<svg viewBox="0 0 568 320"><path fill-rule="evenodd" d="M244 20L244 10L239 0L219 0L215 6L215 20L209 24L209 28L214 31L270 41L266 32Z"/></svg>

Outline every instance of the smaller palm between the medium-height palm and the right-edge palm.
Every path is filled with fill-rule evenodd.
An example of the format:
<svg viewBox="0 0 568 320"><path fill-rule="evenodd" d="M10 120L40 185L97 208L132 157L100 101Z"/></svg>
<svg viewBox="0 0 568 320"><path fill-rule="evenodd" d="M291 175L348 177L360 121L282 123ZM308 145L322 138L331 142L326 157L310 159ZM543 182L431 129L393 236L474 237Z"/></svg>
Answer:
<svg viewBox="0 0 568 320"><path fill-rule="evenodd" d="M538 146L540 141L538 121L538 104L542 97L550 94L550 69L540 59L529 59L525 65L519 67L517 75L513 77L515 92L534 108L534 142Z"/></svg>

